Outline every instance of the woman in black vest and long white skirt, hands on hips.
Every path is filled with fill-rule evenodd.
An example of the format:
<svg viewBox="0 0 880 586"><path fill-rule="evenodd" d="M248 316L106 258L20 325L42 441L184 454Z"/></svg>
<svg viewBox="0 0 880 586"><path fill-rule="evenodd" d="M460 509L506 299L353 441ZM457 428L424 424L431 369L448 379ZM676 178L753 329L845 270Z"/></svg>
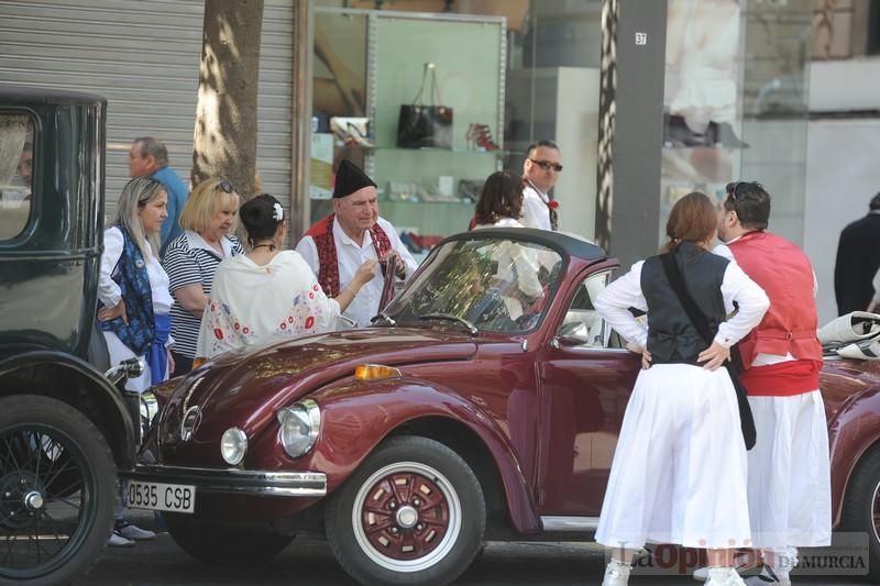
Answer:
<svg viewBox="0 0 880 586"><path fill-rule="evenodd" d="M636 550L647 541L708 550L707 585L744 585L735 548L751 540L746 444L736 391L726 368L730 346L770 302L736 263L710 252L715 207L703 194L673 206L664 254L632 265L595 308L642 355L642 371L624 416L596 541L612 549L603 586L625 586ZM715 330L701 338L667 276L672 261L686 291ZM669 273L667 273L669 270ZM738 311L732 317L734 303ZM647 311L647 328L629 308Z"/></svg>

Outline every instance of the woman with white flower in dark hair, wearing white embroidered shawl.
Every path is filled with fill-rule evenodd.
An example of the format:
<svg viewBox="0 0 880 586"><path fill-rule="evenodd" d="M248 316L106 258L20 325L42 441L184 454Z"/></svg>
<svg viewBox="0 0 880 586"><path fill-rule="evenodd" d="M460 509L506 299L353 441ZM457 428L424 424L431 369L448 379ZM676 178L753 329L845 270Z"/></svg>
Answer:
<svg viewBox="0 0 880 586"><path fill-rule="evenodd" d="M241 207L239 218L251 251L218 265L197 357L333 330L337 317L375 276L376 261L366 261L351 284L330 299L299 253L280 250L287 223L277 199L255 196Z"/></svg>

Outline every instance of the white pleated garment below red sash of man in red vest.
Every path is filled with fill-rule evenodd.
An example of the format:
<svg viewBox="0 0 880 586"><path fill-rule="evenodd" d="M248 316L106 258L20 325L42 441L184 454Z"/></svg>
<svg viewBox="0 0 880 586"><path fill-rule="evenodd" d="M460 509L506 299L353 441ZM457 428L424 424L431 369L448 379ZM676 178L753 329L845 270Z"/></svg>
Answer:
<svg viewBox="0 0 880 586"><path fill-rule="evenodd" d="M758 441L748 453L757 548L820 548L832 539L828 428L818 390L749 397Z"/></svg>

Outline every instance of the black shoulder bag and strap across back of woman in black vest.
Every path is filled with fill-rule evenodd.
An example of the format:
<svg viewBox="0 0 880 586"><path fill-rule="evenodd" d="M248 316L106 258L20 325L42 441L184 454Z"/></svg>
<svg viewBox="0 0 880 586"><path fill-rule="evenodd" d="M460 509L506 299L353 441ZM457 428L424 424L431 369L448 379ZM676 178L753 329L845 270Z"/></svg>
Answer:
<svg viewBox="0 0 880 586"><path fill-rule="evenodd" d="M672 253L667 253L661 254L660 258L663 262L663 272L670 285L672 285L672 290L675 291L675 296L678 296L679 301L684 308L684 312L688 313L688 318L691 320L694 328L696 328L696 331L700 332L700 336L703 341L712 345L712 342L715 340L715 333L712 332L708 325L708 318L706 318L706 314L703 313L703 310L696 305L691 294L688 292L684 286L684 278L681 275L679 265L675 263L675 256ZM736 390L736 402L739 407L739 427L743 430L743 441L746 442L746 450L751 450L755 447L757 432L755 430L755 418L751 414L751 407L749 406L748 391L743 383L739 382L739 374L744 368L743 358L739 356L739 349L736 344L730 349L730 360L725 363L724 366L727 368L727 374L730 375L730 382L734 384L734 390Z"/></svg>

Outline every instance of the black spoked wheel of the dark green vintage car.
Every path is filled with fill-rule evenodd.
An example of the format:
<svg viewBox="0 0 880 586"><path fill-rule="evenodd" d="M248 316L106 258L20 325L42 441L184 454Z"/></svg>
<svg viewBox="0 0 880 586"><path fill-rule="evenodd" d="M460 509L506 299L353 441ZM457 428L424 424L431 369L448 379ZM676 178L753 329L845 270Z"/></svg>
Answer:
<svg viewBox="0 0 880 586"><path fill-rule="evenodd" d="M0 581L84 575L107 546L116 472L100 431L69 405L0 399Z"/></svg>

